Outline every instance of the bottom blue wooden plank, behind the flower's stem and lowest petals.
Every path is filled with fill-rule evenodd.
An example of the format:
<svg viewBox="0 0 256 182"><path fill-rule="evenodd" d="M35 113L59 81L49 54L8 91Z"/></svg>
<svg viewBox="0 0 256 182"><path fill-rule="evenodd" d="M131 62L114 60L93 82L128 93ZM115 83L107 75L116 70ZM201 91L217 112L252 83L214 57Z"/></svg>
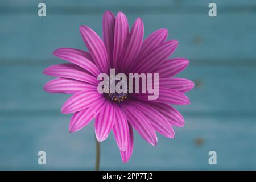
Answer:
<svg viewBox="0 0 256 182"><path fill-rule="evenodd" d="M15 113L1 117L0 169L94 169L93 122L71 134L68 118ZM122 164L110 134L101 144L101 169L256 169L255 118L185 118L185 127L175 128L176 138L158 135L156 147L135 133L134 153L127 164ZM40 150L46 151L46 166L37 164ZM208 164L211 150L217 152L217 165Z"/></svg>

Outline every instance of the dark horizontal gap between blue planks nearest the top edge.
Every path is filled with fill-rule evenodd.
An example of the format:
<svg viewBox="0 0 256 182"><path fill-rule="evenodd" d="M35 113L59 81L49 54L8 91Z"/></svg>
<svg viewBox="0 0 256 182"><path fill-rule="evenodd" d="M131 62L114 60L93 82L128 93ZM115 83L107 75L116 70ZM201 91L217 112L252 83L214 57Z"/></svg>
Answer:
<svg viewBox="0 0 256 182"><path fill-rule="evenodd" d="M152 14L152 13L170 13L170 14L197 14L208 12L208 7L205 6L106 6L106 7L57 7L51 6L49 14L51 15L88 15L88 14L102 14L106 9L112 11L125 11L126 13L140 13L140 14ZM239 6L226 6L218 7L218 13L255 13L255 5L239 5ZM0 7L0 15L20 15L20 14L35 14L34 7Z"/></svg>

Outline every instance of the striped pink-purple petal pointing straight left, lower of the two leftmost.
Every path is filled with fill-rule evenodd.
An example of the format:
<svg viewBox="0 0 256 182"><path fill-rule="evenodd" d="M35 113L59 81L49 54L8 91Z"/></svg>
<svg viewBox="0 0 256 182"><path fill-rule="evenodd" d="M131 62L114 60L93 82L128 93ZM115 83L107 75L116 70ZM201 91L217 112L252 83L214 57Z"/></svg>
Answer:
<svg viewBox="0 0 256 182"><path fill-rule="evenodd" d="M44 85L44 90L50 93L67 93L74 94L81 90L91 88L92 85L87 84L83 81L72 80L67 78L56 78L51 80ZM94 86L95 87L95 86Z"/></svg>

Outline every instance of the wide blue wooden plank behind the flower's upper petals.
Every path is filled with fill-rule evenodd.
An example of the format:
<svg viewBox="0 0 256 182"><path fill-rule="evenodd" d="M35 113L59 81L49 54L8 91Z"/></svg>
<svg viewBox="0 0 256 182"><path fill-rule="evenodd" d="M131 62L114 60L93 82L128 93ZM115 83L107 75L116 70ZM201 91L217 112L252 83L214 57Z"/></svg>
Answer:
<svg viewBox="0 0 256 182"><path fill-rule="evenodd" d="M168 28L169 39L179 40L174 56L190 60L219 63L256 63L254 50L256 13L223 14L209 18L207 14L148 14L128 13L130 25L141 16L145 37L158 28ZM2 15L0 55L4 64L35 63L53 59L52 52L59 47L86 49L79 26L86 24L101 35L102 15ZM236 20L236 23L233 23ZM237 26L239 24L239 26ZM246 27L246 29L245 29ZM243 33L246 31L246 34ZM230 64L232 66L233 64Z"/></svg>

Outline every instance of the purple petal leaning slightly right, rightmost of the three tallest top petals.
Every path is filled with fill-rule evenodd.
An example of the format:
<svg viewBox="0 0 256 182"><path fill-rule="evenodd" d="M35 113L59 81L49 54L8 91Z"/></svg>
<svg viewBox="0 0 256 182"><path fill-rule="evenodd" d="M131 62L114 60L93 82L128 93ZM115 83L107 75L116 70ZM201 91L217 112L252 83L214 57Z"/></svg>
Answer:
<svg viewBox="0 0 256 182"><path fill-rule="evenodd" d="M131 27L130 34L123 46L120 60L118 61L118 68L120 72L125 72L128 65L132 64L141 49L144 35L144 25L141 18L135 20L133 27Z"/></svg>

